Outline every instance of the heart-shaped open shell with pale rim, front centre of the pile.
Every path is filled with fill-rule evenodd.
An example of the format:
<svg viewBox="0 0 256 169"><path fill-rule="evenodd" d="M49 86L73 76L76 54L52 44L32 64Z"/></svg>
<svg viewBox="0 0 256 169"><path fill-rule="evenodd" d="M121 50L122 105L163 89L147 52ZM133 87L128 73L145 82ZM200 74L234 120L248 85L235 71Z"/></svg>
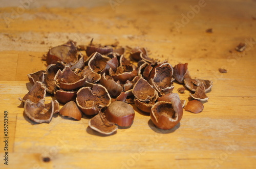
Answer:
<svg viewBox="0 0 256 169"><path fill-rule="evenodd" d="M97 115L101 107L110 105L111 97L105 87L97 84L92 89L90 87L79 89L76 103L85 115Z"/></svg>

